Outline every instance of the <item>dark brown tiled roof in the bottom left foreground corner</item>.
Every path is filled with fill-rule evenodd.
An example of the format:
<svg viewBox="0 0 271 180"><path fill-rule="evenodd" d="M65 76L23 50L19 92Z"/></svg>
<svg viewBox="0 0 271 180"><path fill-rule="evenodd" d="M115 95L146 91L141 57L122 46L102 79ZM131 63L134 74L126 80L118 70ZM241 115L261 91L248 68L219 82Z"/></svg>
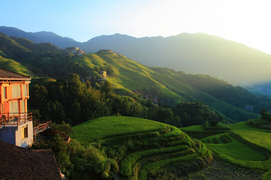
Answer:
<svg viewBox="0 0 271 180"><path fill-rule="evenodd" d="M0 179L61 180L51 149L31 150L0 140Z"/></svg>

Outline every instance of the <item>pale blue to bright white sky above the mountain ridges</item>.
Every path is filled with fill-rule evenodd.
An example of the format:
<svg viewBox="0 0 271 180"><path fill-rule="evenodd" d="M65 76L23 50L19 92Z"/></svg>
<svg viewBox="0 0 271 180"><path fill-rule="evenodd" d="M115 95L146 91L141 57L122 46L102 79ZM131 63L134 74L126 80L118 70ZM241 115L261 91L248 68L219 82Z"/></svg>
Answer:
<svg viewBox="0 0 271 180"><path fill-rule="evenodd" d="M0 0L0 26L77 41L205 32L271 54L271 0Z"/></svg>

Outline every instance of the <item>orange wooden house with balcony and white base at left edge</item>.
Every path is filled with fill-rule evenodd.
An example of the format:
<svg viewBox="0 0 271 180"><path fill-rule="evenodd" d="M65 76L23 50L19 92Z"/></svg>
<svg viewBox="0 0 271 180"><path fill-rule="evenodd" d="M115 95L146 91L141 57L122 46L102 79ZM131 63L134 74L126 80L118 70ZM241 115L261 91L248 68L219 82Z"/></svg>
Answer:
<svg viewBox="0 0 271 180"><path fill-rule="evenodd" d="M49 128L51 121L33 128L27 112L30 76L0 68L0 140L21 147L32 144L33 135Z"/></svg>

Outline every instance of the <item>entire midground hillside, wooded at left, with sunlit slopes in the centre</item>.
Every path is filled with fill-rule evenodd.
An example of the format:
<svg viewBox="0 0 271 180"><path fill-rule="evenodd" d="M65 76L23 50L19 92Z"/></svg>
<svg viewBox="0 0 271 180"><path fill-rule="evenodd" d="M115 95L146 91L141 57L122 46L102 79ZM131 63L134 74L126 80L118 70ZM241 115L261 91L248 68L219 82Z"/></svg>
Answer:
<svg viewBox="0 0 271 180"><path fill-rule="evenodd" d="M252 94L242 87L233 86L208 75L148 67L113 52L78 56L66 53L50 43L35 44L25 38L9 37L5 34L1 34L1 38L4 41L0 49L5 58L2 57L4 60L0 61L0 65L4 68L4 64L7 64L5 59L14 58L32 76L67 80L70 73L76 73L81 80L88 80L92 87L99 89L103 81L99 71L105 70L106 80L112 84L117 94L139 99L145 95L157 96L158 101L170 105L171 108L178 102L201 100L230 122L259 117L258 114L245 111L245 105L253 105L256 113L262 108L271 109L270 97ZM5 68L20 73L12 65L6 65ZM145 101L142 100L141 104ZM175 116L177 115L174 114L173 117Z"/></svg>

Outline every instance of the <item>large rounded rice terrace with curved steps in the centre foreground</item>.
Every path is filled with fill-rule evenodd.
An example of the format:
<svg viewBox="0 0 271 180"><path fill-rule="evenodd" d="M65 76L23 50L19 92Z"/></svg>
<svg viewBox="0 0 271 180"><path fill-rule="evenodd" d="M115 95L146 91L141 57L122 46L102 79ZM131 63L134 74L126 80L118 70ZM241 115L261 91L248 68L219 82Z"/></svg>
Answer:
<svg viewBox="0 0 271 180"><path fill-rule="evenodd" d="M212 153L177 127L136 117L105 116L73 127L73 138L117 161L116 179L147 179L170 165L206 166Z"/></svg>

